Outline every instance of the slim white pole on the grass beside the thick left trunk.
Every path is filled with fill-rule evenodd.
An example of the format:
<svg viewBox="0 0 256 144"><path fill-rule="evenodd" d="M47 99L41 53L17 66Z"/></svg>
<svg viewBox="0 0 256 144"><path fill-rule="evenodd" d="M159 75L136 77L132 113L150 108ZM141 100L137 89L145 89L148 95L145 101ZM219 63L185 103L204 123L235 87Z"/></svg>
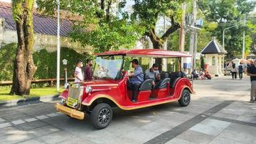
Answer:
<svg viewBox="0 0 256 144"><path fill-rule="evenodd" d="M61 63L61 43L60 43L60 0L58 2L58 29L57 29L57 91L60 90L60 63Z"/></svg>

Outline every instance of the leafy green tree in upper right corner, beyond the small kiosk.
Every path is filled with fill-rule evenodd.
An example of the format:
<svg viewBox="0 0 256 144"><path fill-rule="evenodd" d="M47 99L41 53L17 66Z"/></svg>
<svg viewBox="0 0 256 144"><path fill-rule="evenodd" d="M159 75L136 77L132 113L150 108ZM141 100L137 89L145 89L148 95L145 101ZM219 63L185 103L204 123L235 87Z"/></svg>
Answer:
<svg viewBox="0 0 256 144"><path fill-rule="evenodd" d="M229 58L242 53L242 32L246 30L249 35L247 27L242 24L244 14L252 12L255 4L256 1L247 0L198 0L198 6L206 20L218 24L218 27L211 31L212 36L216 36L218 40L222 41L222 32L226 27L237 24L237 27L225 30L225 49ZM249 51L249 48L246 50Z"/></svg>

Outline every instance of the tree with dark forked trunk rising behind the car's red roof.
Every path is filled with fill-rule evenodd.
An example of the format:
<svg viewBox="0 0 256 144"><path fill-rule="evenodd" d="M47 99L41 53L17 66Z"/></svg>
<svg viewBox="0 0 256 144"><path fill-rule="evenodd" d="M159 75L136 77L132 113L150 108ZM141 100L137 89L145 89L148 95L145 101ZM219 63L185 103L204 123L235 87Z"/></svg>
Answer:
<svg viewBox="0 0 256 144"><path fill-rule="evenodd" d="M133 19L136 19L141 27L144 27L144 35L150 38L154 49L162 48L169 35L180 28L181 4L184 1L134 0ZM163 35L157 35L156 22L159 17L163 16L170 19L171 27L167 28ZM156 58L156 63L159 63L161 69L162 59Z"/></svg>

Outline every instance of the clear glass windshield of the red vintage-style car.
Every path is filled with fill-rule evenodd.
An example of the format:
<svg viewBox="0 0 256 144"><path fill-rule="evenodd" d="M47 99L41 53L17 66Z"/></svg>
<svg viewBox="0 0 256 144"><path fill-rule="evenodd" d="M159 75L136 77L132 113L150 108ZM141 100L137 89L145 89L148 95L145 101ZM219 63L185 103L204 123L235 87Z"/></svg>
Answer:
<svg viewBox="0 0 256 144"><path fill-rule="evenodd" d="M115 79L123 65L122 55L100 56L95 59L94 78Z"/></svg>

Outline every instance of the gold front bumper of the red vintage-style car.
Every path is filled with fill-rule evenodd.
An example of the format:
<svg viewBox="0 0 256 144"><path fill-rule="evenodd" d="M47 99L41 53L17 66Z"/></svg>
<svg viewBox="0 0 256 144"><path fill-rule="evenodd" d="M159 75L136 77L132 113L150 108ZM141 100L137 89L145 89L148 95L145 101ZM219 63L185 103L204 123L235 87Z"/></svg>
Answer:
<svg viewBox="0 0 256 144"><path fill-rule="evenodd" d="M56 103L55 104L56 110L58 112L62 112L63 114L67 114L70 117L73 117L78 120L84 120L84 112L80 112L76 109L71 109L69 107L65 107L62 104Z"/></svg>

